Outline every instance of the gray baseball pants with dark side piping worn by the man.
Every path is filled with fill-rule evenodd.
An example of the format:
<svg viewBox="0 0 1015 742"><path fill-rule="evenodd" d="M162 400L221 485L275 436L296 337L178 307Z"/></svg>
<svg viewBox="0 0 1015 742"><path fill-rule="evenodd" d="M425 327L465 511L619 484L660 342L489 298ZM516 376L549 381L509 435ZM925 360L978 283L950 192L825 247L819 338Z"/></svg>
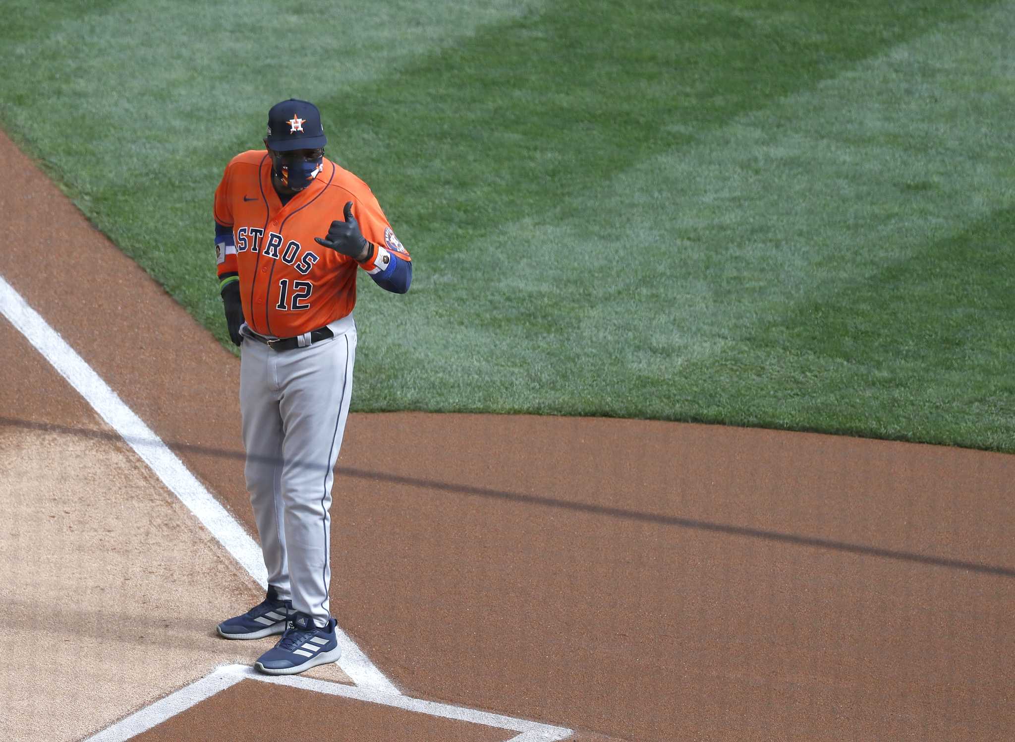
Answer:
<svg viewBox="0 0 1015 742"><path fill-rule="evenodd" d="M268 584L319 626L331 616L331 486L352 396L356 326L274 351L244 337L240 409L247 490L268 569Z"/></svg>

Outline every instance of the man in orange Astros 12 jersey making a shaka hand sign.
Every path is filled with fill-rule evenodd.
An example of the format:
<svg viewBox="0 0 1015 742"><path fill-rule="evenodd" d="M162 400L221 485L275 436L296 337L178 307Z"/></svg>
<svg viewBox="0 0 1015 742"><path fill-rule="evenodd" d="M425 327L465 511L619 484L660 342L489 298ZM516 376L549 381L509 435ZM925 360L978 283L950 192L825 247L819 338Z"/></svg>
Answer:
<svg viewBox="0 0 1015 742"><path fill-rule="evenodd" d="M255 667L335 662L329 608L331 487L352 392L356 275L404 294L409 253L370 189L324 157L321 114L268 112L265 149L234 157L215 190L215 251L229 336L242 346L245 474L268 570L265 600L218 625L232 639L282 634Z"/></svg>

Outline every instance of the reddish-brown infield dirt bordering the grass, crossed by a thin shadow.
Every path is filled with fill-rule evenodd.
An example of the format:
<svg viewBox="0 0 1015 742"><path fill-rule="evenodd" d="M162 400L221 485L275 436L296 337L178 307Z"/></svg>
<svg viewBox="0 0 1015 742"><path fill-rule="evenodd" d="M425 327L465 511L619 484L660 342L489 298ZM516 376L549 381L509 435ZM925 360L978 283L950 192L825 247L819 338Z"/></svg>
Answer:
<svg viewBox="0 0 1015 742"><path fill-rule="evenodd" d="M0 275L254 533L238 359L2 136L0 168L27 173L0 192L12 233ZM8 373L27 374L30 354L6 354ZM0 397L0 441L86 436L93 421L68 389L40 385L27 411ZM392 441L395 460L379 455ZM333 610L407 694L576 739L1005 739L1013 480L1015 456L822 435L353 415L332 513ZM46 545L17 548L2 568ZM227 569L209 564L208 579ZM221 618L187 610L208 627ZM15 680L8 671L6 687ZM222 715L260 720L293 692L241 683L165 729L206 738ZM331 725L353 715L312 693L298 703ZM356 738L438 734L412 717L387 714Z"/></svg>

